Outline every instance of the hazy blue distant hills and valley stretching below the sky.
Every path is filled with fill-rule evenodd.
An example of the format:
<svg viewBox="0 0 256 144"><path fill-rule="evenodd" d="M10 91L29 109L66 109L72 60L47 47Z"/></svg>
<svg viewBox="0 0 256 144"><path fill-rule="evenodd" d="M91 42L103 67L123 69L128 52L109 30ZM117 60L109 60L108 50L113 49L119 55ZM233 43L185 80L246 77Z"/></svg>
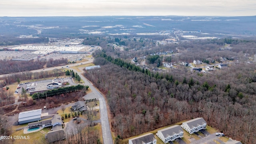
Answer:
<svg viewBox="0 0 256 144"><path fill-rule="evenodd" d="M0 17L0 36L70 37L86 34L160 33L183 30L218 36L255 36L256 16L57 16ZM228 34L228 35L225 35Z"/></svg>

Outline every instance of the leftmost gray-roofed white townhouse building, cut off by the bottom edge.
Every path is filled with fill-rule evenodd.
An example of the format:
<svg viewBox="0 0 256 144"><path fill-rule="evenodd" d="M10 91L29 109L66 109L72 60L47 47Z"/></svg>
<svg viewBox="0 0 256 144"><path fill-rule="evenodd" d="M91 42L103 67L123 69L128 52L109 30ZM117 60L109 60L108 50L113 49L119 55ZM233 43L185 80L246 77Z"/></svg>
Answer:
<svg viewBox="0 0 256 144"><path fill-rule="evenodd" d="M156 144L154 134L148 133L128 140L129 144Z"/></svg>

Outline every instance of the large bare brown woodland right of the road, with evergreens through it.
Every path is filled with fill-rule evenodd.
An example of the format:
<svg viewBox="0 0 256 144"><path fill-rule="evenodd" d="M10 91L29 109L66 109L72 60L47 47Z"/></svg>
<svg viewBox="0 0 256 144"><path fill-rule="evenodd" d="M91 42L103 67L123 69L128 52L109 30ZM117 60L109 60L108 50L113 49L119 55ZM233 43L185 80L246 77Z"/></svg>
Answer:
<svg viewBox="0 0 256 144"><path fill-rule="evenodd" d="M106 94L112 130L121 138L203 117L227 136L255 141L253 64L232 63L212 74L175 69L156 76L100 61L105 64L100 70L88 70L84 76Z"/></svg>

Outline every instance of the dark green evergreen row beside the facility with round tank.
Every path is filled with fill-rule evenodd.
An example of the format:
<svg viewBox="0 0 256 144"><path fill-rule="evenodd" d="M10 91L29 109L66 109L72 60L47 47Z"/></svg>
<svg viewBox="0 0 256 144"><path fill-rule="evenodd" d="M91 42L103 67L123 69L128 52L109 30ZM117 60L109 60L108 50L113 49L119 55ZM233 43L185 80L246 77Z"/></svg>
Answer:
<svg viewBox="0 0 256 144"><path fill-rule="evenodd" d="M68 86L68 87L64 87L64 88L48 90L48 91L45 91L43 93L34 93L34 94L32 94L31 97L33 99L52 97L52 96L56 96L56 95L59 95L59 94L66 94L66 93L69 93L69 92L75 92L75 91L78 91L78 90L82 90L83 88L84 88L83 85L78 84L77 86Z"/></svg>

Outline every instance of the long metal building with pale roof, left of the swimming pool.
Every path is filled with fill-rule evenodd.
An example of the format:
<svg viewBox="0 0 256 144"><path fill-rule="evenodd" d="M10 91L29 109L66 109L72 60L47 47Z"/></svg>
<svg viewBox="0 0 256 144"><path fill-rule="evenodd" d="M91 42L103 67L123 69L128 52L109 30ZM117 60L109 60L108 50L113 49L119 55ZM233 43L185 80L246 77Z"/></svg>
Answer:
<svg viewBox="0 0 256 144"><path fill-rule="evenodd" d="M41 120L41 114L42 114L42 109L20 112L18 122L19 124L36 122L38 120Z"/></svg>

